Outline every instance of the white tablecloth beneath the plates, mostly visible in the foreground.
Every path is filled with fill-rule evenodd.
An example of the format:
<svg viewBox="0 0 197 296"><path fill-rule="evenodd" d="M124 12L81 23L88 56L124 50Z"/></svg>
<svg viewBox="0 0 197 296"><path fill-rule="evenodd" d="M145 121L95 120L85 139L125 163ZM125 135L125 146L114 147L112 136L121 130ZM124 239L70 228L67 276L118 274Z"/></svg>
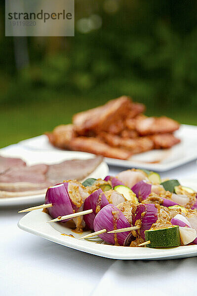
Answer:
<svg viewBox="0 0 197 296"><path fill-rule="evenodd" d="M120 171L110 167L111 175ZM189 178L197 175L197 164L160 175ZM0 296L197 295L197 257L123 261L89 255L20 230L18 210L0 208Z"/></svg>

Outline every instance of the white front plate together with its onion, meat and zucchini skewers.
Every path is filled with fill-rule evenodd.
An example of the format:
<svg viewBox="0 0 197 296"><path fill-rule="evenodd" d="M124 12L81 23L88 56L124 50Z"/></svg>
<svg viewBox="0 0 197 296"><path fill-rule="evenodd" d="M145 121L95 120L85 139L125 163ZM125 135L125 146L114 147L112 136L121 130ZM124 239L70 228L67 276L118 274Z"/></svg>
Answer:
<svg viewBox="0 0 197 296"><path fill-rule="evenodd" d="M66 181L47 189L44 204L19 228L111 259L197 256L197 184L126 170L116 177Z"/></svg>

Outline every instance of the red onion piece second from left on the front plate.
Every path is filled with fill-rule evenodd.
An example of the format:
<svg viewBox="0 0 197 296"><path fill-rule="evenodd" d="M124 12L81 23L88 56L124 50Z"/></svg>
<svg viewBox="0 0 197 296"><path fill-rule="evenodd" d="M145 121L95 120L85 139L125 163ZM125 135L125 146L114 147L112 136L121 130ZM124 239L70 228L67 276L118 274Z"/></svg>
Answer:
<svg viewBox="0 0 197 296"><path fill-rule="evenodd" d="M85 224L89 229L94 230L94 218L96 217L97 213L108 204L109 201L100 188L85 199L83 210L93 210L93 213L83 216Z"/></svg>

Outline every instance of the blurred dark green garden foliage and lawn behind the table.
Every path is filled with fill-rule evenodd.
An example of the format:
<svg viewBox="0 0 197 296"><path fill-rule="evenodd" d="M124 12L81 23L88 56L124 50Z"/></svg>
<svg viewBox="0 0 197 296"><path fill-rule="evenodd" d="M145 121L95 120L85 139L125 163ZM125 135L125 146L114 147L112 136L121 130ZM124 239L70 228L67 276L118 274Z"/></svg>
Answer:
<svg viewBox="0 0 197 296"><path fill-rule="evenodd" d="M5 37L0 147L123 94L197 124L197 0L75 0L75 37Z"/></svg>

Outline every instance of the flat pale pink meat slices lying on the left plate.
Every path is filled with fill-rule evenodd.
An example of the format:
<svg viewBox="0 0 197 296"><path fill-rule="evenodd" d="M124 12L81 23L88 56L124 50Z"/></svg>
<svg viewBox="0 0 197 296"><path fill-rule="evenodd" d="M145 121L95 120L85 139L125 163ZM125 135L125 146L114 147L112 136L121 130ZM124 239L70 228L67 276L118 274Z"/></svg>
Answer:
<svg viewBox="0 0 197 296"><path fill-rule="evenodd" d="M46 188L65 180L82 181L102 162L90 159L66 160L59 164L14 167L0 175L0 198L44 193Z"/></svg>

